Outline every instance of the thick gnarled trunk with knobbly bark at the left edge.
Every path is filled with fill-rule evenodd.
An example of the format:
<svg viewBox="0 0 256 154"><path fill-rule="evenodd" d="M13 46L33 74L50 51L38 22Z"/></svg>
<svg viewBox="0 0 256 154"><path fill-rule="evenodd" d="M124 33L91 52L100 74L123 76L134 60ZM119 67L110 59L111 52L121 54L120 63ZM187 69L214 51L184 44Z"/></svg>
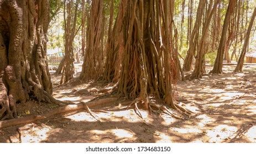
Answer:
<svg viewBox="0 0 256 154"><path fill-rule="evenodd" d="M17 116L15 103L53 102L46 58L49 2L0 2L0 120Z"/></svg>

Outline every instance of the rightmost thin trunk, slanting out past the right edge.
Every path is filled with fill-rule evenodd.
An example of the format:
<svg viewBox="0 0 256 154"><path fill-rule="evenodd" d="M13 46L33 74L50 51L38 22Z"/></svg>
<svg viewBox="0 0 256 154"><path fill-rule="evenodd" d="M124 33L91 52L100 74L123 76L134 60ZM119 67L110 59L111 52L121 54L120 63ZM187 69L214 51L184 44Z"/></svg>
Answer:
<svg viewBox="0 0 256 154"><path fill-rule="evenodd" d="M246 34L246 37L245 37L245 40L244 40L243 49L242 49L242 52L239 56L237 67L236 67L236 69L234 69L234 72L238 72L238 71L243 70L244 57L245 57L245 54L247 52L247 47L249 45L250 31L252 31L255 15L256 15L256 7L253 10L253 15L252 15L252 18L250 19L250 24L249 24L249 27L247 29L247 34Z"/></svg>

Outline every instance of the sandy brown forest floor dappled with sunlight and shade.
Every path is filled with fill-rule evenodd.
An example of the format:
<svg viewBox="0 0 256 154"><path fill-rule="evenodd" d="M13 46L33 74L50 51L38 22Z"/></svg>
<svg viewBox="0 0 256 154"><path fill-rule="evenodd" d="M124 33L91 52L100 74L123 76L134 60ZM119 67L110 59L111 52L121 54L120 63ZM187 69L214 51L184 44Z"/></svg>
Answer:
<svg viewBox="0 0 256 154"><path fill-rule="evenodd" d="M234 67L224 65L221 75L177 83L176 97L196 113L190 118L140 110L144 122L132 108L126 109L131 101L118 100L93 108L98 109L94 117L83 110L4 128L0 142L256 142L256 65L245 65L244 72L237 74L232 73ZM59 80L60 76L52 76L53 96L74 103L88 102L111 86L77 79L58 86ZM34 101L18 104L19 117L54 108Z"/></svg>

